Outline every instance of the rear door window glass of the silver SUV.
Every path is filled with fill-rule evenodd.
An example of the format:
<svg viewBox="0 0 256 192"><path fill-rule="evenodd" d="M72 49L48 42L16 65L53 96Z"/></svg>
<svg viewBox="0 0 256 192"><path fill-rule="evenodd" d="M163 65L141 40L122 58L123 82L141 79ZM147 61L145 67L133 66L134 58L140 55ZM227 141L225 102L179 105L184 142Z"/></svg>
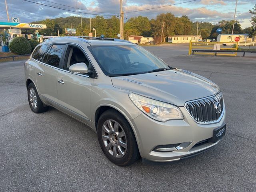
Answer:
<svg viewBox="0 0 256 192"><path fill-rule="evenodd" d="M48 52L44 56L43 62L54 67L59 67L60 58L62 57L65 46L66 45L64 44L52 45L52 47L48 50Z"/></svg>

